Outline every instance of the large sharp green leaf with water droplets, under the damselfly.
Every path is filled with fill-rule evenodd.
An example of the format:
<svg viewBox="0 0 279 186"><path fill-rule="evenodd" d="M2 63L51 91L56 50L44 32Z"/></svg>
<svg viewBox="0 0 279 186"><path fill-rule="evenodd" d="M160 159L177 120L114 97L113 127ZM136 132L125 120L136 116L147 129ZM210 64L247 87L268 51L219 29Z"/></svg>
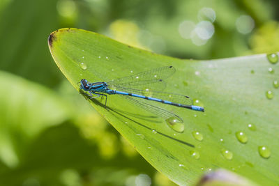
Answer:
<svg viewBox="0 0 279 186"><path fill-rule="evenodd" d="M273 88L273 81L278 79L279 67L269 63L266 54L181 60L80 29L53 32L49 46L54 61L77 91L83 78L100 82L166 65L176 68L165 90L188 95L205 108L201 113L160 104L183 118L183 133L119 95L107 96L107 108L105 99L89 99L150 164L175 183L195 183L204 171L218 168L262 185L278 183L279 90ZM273 92L271 100L266 91ZM259 146L266 146L271 155L259 155ZM268 156L266 150L262 155Z"/></svg>

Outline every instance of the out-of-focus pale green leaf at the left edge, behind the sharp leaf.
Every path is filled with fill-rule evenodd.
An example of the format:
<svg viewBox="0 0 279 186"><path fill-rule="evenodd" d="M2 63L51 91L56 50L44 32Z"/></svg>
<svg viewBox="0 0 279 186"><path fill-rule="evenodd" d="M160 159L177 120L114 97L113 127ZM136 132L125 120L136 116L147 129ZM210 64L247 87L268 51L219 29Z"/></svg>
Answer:
<svg viewBox="0 0 279 186"><path fill-rule="evenodd" d="M50 89L0 71L0 159L15 167L45 128L66 121L69 104Z"/></svg>

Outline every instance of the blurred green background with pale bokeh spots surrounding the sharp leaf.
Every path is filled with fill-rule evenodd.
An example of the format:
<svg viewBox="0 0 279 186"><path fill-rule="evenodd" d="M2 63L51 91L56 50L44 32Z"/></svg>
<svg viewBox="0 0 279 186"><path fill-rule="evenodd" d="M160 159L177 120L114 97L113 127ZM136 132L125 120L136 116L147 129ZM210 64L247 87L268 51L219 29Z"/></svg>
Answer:
<svg viewBox="0 0 279 186"><path fill-rule="evenodd" d="M219 59L278 52L278 10L277 0L1 0L0 185L174 185L63 77L52 31Z"/></svg>

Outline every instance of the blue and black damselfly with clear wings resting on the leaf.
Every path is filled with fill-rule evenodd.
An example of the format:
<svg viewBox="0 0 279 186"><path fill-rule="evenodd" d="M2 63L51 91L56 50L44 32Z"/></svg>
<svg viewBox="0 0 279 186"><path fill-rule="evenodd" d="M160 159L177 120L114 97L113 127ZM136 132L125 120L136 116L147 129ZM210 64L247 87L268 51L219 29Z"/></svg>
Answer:
<svg viewBox="0 0 279 186"><path fill-rule="evenodd" d="M100 95L104 95L105 106L107 105L107 95L124 95L134 104L163 118L179 116L158 106L149 104L150 101L170 104L195 111L204 111L203 107L193 105L193 100L187 95L162 92L165 88L163 79L170 77L174 72L175 68L173 66L165 66L110 82L90 83L86 79L82 79L80 81L80 88L89 92L91 98L98 98Z"/></svg>

